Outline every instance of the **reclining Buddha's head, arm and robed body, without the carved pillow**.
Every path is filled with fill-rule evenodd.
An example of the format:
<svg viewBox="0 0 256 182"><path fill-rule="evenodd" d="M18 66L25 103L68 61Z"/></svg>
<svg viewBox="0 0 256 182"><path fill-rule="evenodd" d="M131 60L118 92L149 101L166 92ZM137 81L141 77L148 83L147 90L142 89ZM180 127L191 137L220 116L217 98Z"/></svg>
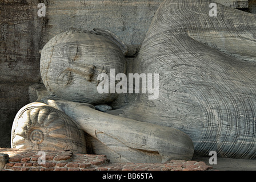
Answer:
<svg viewBox="0 0 256 182"><path fill-rule="evenodd" d="M185 4L190 7L175 11L175 6L185 6ZM122 107L122 100L117 100L114 103L115 107L118 107L119 104L119 107L122 109L117 115L134 119L133 121L125 119L126 125L130 123L131 126L138 129L137 131L135 128L130 128L131 131L137 131L137 133L135 132L135 135L139 136L138 138L132 137L131 140L137 140L136 142L140 143L141 146L145 145L145 148L138 147L130 141L128 136L132 136L132 134L129 133L131 131L127 130L125 135L119 133L118 129L123 125L121 122L122 118L115 118L116 116L106 114L102 116L102 119L100 119L100 113L97 113L97 111L95 112L87 106L83 107L83 105L78 103L75 104L74 102L46 101L47 104L55 106L69 115L79 123L79 126L81 126L86 133L101 141L114 153L122 156L122 158L124 158L123 160L137 160L137 162L140 159L144 161L163 161L170 158L187 158L190 155L189 152L181 154L181 151L183 150L181 148L176 148L177 150L174 150L175 147L173 146L175 146L174 143L177 138L170 140L169 144L166 142L165 145L163 144L158 147L155 147L154 143L150 143L153 141L150 139L149 143L152 146L150 146L150 144L149 146L143 144L141 137L143 134L151 131L150 127L157 127L154 125L163 126L161 128L162 131L168 129L171 130L171 127L175 127L176 129L189 134L197 146L196 152L201 155L207 155L209 151L215 150L219 155L226 157L254 158L256 147L253 142L255 139L254 135L241 135L240 133L237 133L239 128L245 128L243 125L249 125L251 122L250 120L253 118L249 118L249 120L247 120L248 118L239 118L240 114L233 116L230 115L229 112L233 113L241 107L244 108L243 113L250 112L251 115L253 115L255 112L254 110L247 109L246 104L243 104L242 102L234 102L233 99L239 99L241 94L243 94L244 96L242 96L242 98L247 97L250 103L255 104L255 92L253 92L253 90L255 90L255 82L251 80L251 76L255 72L255 63L249 61L255 60L254 52L256 47L253 40L250 39L254 34L253 32L250 32L250 29L254 30L256 25L253 24L254 21L252 21L253 26L248 28L246 34L247 38L243 35L241 36L242 38L238 39L233 35L234 28L237 28L235 34L239 34L239 24L245 24L247 22L237 18L234 19L233 24L226 26L227 23L223 24L221 22L222 19L219 19L218 17L233 13L239 14L241 17L245 16L249 19L251 18L251 15L243 13L242 11L234 11L226 6L218 5L217 17L209 20L209 5L210 2L207 3L206 1L193 1L190 2L190 4L188 2L165 1L153 19L150 30L142 44L141 52L139 52L138 57L133 60L133 63L127 66L127 71L124 70L126 67L123 66L125 65L125 59L119 59L117 56L122 55L122 49L120 49L120 47L119 49L118 47L111 47L110 44L107 45L104 43L109 40L104 39L103 37L99 38L98 36L89 34L88 32L64 32L51 39L42 50L41 73L46 88L50 92L56 93L57 97L69 101L86 102L89 104L104 104L113 101L115 97L110 97L111 94L109 94L110 100L108 100L109 97L107 97L107 94L97 93L95 87L88 85L88 83L93 83L94 86L95 84L97 86L96 77L103 72L103 70L106 73L109 73L111 68L119 68L118 63L121 64L121 69L117 69L118 73L138 72L162 74L159 82L160 97L157 98L157 100L149 100L147 94L137 94L136 96L127 97L127 104L125 104L124 107ZM187 9L191 9L193 11L189 11L189 13L187 13ZM173 16L169 17L168 15L171 14ZM180 19L182 16L183 18L177 23L171 23L175 19ZM197 18L200 19L200 22L196 20ZM214 25L207 24L205 21L210 21ZM237 21L239 23L235 24ZM170 27L170 25L172 26ZM175 31L175 28L181 29L180 31ZM214 36L211 36L211 31L213 31L211 28L215 28ZM227 31L230 32L229 36L225 34ZM243 34L244 31L245 30L242 29L241 34ZM159 32L161 32L161 34L159 34ZM171 36L171 40L169 36ZM227 44L223 44L223 39ZM242 45L240 44L238 47L238 41L241 41L242 39L246 43ZM90 40L90 43L87 43L88 40ZM98 40L101 40L101 44L94 43L94 41L97 42ZM203 46L202 43L207 44L207 46ZM176 45L175 50L178 50L181 55L176 55L175 52L172 52L174 48L171 48L169 44L171 44L171 46ZM183 47L186 45L186 48L178 48L180 44L183 44ZM75 47L74 51L71 49L69 50L69 48L65 50L62 48L66 46L70 47L70 45ZM105 46L107 46L108 49L104 49ZM195 49L195 46L198 46L198 48ZM90 47L94 50L93 55L90 55L89 53L91 52ZM213 48L218 51L222 51L226 55L220 54ZM83 51L79 51L79 49ZM202 52L203 49L205 49L205 51ZM116 50L119 50L119 52ZM165 50L165 52L162 52L161 50ZM113 52L117 53L117 55L112 56ZM85 53L86 56L83 56L83 53ZM65 56L65 54L67 56ZM201 56L198 57L197 54ZM50 56L47 57L47 55ZM95 57L95 55L97 56ZM106 55L108 59L102 59L102 57L98 55ZM186 56L193 64L186 63ZM209 57L210 60L207 61L209 66L206 67L205 61L209 59ZM211 57L214 57L216 60L211 61ZM49 60L47 60L47 58ZM110 65L108 62L109 59L111 59L114 64ZM78 60L77 64L73 64L73 62L75 62L74 60ZM248 62L245 62L244 60ZM63 63L63 61L65 63ZM94 65L91 65L91 63L99 65L103 64L105 69L102 69L101 71L94 71L94 69L97 70L98 66L95 67ZM87 64L93 67L92 71L90 69L86 69L87 67L85 65ZM104 66L105 64L107 65L106 67ZM237 67L239 64L241 64L241 66ZM249 67L251 68L249 75L239 74L242 69L246 70ZM215 69L215 72L212 71L212 68ZM225 71L227 68L229 70L233 70L233 72ZM80 70L82 70L84 74L78 73ZM68 71L68 73L65 71ZM59 77L63 72L65 73L61 76L61 79L64 81L63 83L59 83ZM236 73L234 74L234 72ZM231 80L228 84L226 84L225 81L227 77ZM238 81L239 78L241 79L242 77L246 82ZM73 80L79 81L73 82ZM83 82L80 80L83 80ZM85 90L82 90L77 83L82 83L81 85L84 86L82 89ZM246 84L250 85L253 89L241 90L243 85ZM173 88L175 88L175 91ZM233 88L234 90L230 90L230 88ZM66 89L68 91L66 91ZM61 92L64 90L63 92L65 94L58 92L58 90L61 90ZM219 90L222 90L222 92ZM237 94L235 90L239 90L239 94ZM213 94L209 94L209 91ZM78 98L74 97L76 95L78 95ZM216 100L215 97L218 99ZM233 106L226 103L232 103ZM214 104L214 106L211 104ZM218 107L216 107L216 105ZM76 110L75 107L78 107L79 109ZM88 110L87 112L89 114L86 112L85 115L82 108L84 111ZM212 108L215 108L214 111ZM204 112L203 110L206 111ZM72 113L70 111L72 111ZM94 112L95 115L97 115L97 119L94 119L93 117L94 114L92 113ZM112 111L109 113L112 113ZM225 115L225 113L227 114ZM88 115L90 116L90 119L86 119ZM211 115L215 115L216 118L211 117ZM222 117L227 118L227 121L226 119L222 121ZM238 124L233 121L234 118L241 119L241 122L238 122ZM116 124L113 126L113 123L110 125L109 119L111 122L115 120L119 122L115 122ZM98 125L98 120L101 121L101 126ZM137 121L147 122L149 125L140 126L141 123ZM230 123L227 123L227 126L226 124L223 125L224 122L228 121L230 121ZM106 122L105 125L103 124L104 122ZM209 125L211 122L213 122L213 124ZM151 125L150 123L153 123L154 125ZM125 128L129 129L129 126L126 125ZM247 130L250 131L250 128L251 127L248 127ZM253 126L253 128L255 129L255 126ZM254 129L252 130L254 131ZM175 133L174 131L166 132ZM247 133L247 131L245 132ZM129 135L127 135L127 133L129 133ZM162 139L164 138L163 136L158 136L157 132L153 135L157 136L155 140L162 142ZM177 135L182 135L182 133ZM233 136L237 136L235 137L235 140L233 140ZM117 140L116 138L123 138L124 140ZM148 137L146 136L146 138ZM191 146L191 144L186 142L186 140L187 139L184 138L184 143L182 143L182 146L185 148L186 144ZM230 142L230 140L233 140L233 142L228 144L227 142ZM177 140L176 142L179 143L181 140ZM247 151L247 147L242 150L241 147L243 145L250 146L251 151ZM159 148L159 151L149 149L148 147ZM166 153L162 152L166 151L166 147L170 147L169 149L171 152L170 150ZM233 147L234 149L232 150ZM133 150L134 148L135 150ZM134 156L136 156L136 159Z"/></svg>

